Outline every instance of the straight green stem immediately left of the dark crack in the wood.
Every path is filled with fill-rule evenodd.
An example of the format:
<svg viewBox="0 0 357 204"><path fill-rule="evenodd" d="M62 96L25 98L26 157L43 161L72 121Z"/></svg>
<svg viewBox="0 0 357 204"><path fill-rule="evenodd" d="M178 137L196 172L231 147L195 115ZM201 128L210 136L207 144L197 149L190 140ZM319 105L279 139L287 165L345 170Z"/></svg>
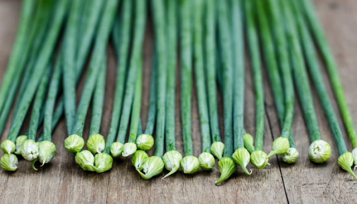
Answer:
<svg viewBox="0 0 357 204"><path fill-rule="evenodd" d="M264 134L264 89L261 70L261 56L259 50L259 41L257 33L257 25L254 23L254 13L252 3L245 1L246 12L246 30L248 38L248 47L250 53L250 62L253 72L254 91L256 94L256 150L263 149L263 134Z"/></svg>

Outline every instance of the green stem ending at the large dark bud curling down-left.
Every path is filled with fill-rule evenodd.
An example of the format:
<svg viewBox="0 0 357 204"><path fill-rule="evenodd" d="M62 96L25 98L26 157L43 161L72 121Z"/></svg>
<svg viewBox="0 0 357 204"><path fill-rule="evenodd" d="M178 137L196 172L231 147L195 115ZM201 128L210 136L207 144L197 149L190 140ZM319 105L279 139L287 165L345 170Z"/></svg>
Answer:
<svg viewBox="0 0 357 204"><path fill-rule="evenodd" d="M218 6L218 39L221 56L220 69L223 88L223 118L224 118L224 157L233 154L233 58L232 39L229 24L229 10L227 2L220 2Z"/></svg>

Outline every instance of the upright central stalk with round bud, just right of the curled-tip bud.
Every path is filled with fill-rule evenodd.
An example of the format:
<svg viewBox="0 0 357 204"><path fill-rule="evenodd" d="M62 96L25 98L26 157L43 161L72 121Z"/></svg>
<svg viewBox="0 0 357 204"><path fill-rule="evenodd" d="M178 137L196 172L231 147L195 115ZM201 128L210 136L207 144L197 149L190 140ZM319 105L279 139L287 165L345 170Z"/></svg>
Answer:
<svg viewBox="0 0 357 204"><path fill-rule="evenodd" d="M192 31L191 2L180 1L180 50L181 50L181 121L185 157L180 166L184 173L195 173L199 168L199 160L193 156L191 135L191 90L192 90Z"/></svg>

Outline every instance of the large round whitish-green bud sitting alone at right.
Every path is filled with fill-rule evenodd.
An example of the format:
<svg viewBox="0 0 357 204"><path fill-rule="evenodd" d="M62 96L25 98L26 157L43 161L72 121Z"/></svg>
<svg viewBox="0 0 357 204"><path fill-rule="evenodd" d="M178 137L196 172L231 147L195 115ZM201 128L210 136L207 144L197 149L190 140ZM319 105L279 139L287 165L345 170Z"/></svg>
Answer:
<svg viewBox="0 0 357 204"><path fill-rule="evenodd" d="M315 163L325 162L330 155L331 147L323 140L315 140L309 146L309 158Z"/></svg>

